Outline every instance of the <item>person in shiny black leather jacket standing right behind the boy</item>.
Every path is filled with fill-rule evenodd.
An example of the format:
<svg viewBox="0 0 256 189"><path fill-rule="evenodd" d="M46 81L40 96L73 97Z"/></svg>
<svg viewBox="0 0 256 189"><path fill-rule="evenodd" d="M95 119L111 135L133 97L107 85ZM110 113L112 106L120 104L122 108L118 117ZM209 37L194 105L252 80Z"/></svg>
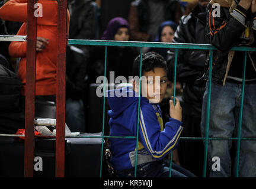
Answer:
<svg viewBox="0 0 256 189"><path fill-rule="evenodd" d="M181 18L174 34L173 43L209 43L206 37L206 5L208 0L200 0L193 11ZM177 61L177 82L184 83L182 136L200 137L201 105L205 82L195 83L203 76L207 52L203 50L179 50ZM168 79L173 81L174 50L168 51ZM203 173L203 142L181 140L178 146L180 163L196 175Z"/></svg>

